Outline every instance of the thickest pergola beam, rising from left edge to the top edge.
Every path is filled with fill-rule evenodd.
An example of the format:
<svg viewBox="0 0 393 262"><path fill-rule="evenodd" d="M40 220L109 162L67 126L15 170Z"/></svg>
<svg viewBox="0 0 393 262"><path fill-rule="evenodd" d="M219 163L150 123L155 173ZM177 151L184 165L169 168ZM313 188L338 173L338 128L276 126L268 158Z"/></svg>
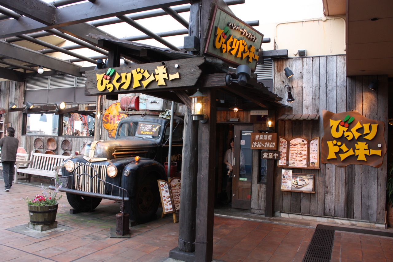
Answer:
<svg viewBox="0 0 393 262"><path fill-rule="evenodd" d="M13 2L13 0L4 0ZM22 0L18 0L22 2ZM187 4L187 0L96 0L94 3L85 2L77 5L66 6L55 10L56 21L46 25L30 17L21 17L18 20L10 19L0 22L0 38L33 33L51 28L59 28L80 24L92 20L126 15L140 11L147 11L168 6Z"/></svg>

